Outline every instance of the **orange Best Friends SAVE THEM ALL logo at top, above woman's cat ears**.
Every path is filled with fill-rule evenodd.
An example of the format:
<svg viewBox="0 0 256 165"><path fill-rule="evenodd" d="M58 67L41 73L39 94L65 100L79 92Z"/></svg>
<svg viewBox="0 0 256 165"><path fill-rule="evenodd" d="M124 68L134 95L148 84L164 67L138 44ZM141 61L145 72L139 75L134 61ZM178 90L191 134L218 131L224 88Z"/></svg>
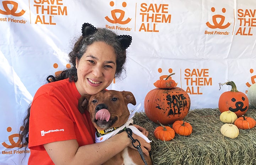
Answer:
<svg viewBox="0 0 256 165"><path fill-rule="evenodd" d="M106 24L106 28L116 29L121 31L131 31L131 27L124 27L124 25L129 24L132 21L130 15L127 15L125 10L127 8L132 9L135 7L135 18L138 17L138 20L134 21L135 27L136 22L140 24L139 32L159 32L157 28L158 23L170 23L171 15L169 14L169 5L168 4L134 4L127 6L126 2L122 2L122 7L115 5L113 1L110 1L109 5L111 7L115 6L115 9L111 10L111 16L105 16L105 20L112 24L120 24L120 25L108 25ZM137 5L140 6L137 10ZM118 8L118 9L116 9ZM138 11L138 12L137 12ZM129 12L131 13L131 12ZM135 28L136 31L136 28Z"/></svg>

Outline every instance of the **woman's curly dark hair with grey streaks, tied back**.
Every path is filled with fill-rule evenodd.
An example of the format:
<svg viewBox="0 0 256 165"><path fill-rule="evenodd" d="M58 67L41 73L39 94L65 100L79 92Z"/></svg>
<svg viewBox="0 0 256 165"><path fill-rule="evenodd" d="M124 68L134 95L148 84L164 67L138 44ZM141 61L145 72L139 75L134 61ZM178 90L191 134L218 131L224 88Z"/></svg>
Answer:
<svg viewBox="0 0 256 165"><path fill-rule="evenodd" d="M80 60L83 54L88 49L89 45L92 45L94 42L104 42L110 46L113 46L116 53L116 72L115 77L119 78L121 73L125 71L125 61L126 61L126 50L122 49L120 42L117 39L117 34L110 31L106 28L97 28L97 31L93 34L88 36L81 36L78 38L76 43L74 44L72 51L69 53L69 61L71 63L71 67L62 71L59 75L53 76L50 75L47 77L48 83L59 81L62 79L69 78L69 81L77 82L77 70L76 70L76 59ZM28 134L29 134L29 115L30 115L30 108L31 104L27 109L27 114L23 119L23 127L24 129L20 131L20 139L23 146L26 146L25 149L28 147Z"/></svg>

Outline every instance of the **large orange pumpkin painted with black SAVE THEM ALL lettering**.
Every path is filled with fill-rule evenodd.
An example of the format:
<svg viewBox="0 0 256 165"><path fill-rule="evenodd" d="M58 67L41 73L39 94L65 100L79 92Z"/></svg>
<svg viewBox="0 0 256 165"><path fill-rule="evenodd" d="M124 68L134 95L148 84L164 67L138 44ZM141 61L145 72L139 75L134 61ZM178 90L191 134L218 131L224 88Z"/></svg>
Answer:
<svg viewBox="0 0 256 165"><path fill-rule="evenodd" d="M183 120L190 109L190 97L179 87L155 88L149 91L144 100L147 117L163 125Z"/></svg>

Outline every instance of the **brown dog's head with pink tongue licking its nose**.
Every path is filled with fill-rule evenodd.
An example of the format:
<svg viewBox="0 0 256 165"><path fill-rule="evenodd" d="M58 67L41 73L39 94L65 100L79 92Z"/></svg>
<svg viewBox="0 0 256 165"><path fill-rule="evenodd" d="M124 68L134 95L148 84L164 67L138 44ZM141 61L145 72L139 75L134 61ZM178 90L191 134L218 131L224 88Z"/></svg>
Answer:
<svg viewBox="0 0 256 165"><path fill-rule="evenodd" d="M136 105L131 92L103 90L95 95L82 95L78 101L81 113L88 110L93 125L98 130L124 125L130 116L127 104Z"/></svg>

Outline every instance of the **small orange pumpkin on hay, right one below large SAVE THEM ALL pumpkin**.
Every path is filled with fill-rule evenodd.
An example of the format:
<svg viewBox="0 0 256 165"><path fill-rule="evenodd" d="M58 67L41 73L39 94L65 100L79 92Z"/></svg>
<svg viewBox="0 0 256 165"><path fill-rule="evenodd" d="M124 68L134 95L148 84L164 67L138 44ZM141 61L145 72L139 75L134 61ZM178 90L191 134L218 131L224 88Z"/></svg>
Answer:
<svg viewBox="0 0 256 165"><path fill-rule="evenodd" d="M177 120L173 123L173 130L179 135L189 136L192 133L192 126L189 122Z"/></svg>

